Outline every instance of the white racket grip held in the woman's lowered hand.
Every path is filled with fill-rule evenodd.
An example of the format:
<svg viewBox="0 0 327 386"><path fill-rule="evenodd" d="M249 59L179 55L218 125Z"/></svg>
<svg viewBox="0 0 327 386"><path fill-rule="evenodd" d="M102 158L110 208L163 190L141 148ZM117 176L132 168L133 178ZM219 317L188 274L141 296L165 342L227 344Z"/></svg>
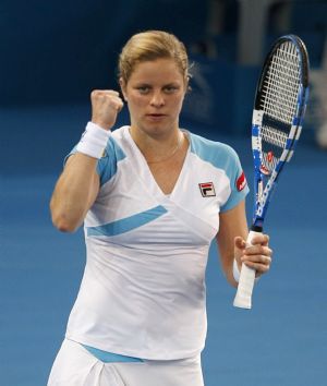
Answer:
<svg viewBox="0 0 327 386"><path fill-rule="evenodd" d="M246 239L246 245L252 245L253 238L259 232L251 230ZM251 309L254 281L255 269L242 264L238 291L233 303L234 306L247 310Z"/></svg>

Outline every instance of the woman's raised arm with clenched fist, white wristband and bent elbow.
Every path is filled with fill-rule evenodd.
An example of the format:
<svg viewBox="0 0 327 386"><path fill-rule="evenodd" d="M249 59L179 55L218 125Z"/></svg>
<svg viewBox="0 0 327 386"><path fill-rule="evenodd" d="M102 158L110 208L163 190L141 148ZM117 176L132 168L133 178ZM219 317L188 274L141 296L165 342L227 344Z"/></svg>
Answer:
<svg viewBox="0 0 327 386"><path fill-rule="evenodd" d="M123 102L114 91L92 93L92 122L60 176L51 201L53 225L63 232L73 232L83 222L99 192L96 167L106 147L110 129ZM107 135L108 134L108 135Z"/></svg>

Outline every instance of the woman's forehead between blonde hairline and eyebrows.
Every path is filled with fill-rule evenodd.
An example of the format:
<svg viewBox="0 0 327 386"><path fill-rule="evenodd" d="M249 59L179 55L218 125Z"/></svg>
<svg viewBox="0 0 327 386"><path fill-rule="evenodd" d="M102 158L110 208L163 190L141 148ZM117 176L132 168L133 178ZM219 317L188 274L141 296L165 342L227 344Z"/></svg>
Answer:
<svg viewBox="0 0 327 386"><path fill-rule="evenodd" d="M170 83L183 81L183 74L173 59L157 59L135 64L129 82Z"/></svg>

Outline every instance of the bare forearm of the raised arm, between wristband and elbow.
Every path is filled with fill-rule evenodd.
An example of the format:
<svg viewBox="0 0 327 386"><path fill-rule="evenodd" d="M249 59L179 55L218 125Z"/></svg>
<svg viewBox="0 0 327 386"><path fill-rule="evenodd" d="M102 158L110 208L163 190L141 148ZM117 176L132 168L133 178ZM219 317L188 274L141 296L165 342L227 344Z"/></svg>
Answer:
<svg viewBox="0 0 327 386"><path fill-rule="evenodd" d="M55 188L51 202L53 225L72 232L83 222L98 191L97 159L76 153L71 156Z"/></svg>

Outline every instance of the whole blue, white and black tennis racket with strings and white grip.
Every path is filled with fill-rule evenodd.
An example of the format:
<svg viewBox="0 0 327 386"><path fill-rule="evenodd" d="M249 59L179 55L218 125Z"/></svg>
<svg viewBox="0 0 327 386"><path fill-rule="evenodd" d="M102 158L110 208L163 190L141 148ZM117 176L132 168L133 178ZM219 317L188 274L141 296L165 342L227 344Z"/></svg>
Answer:
<svg viewBox="0 0 327 386"><path fill-rule="evenodd" d="M308 97L308 57L295 35L277 39L258 80L253 118L254 215L246 243L263 231L278 178L301 134ZM251 309L255 270L242 264L234 306Z"/></svg>

